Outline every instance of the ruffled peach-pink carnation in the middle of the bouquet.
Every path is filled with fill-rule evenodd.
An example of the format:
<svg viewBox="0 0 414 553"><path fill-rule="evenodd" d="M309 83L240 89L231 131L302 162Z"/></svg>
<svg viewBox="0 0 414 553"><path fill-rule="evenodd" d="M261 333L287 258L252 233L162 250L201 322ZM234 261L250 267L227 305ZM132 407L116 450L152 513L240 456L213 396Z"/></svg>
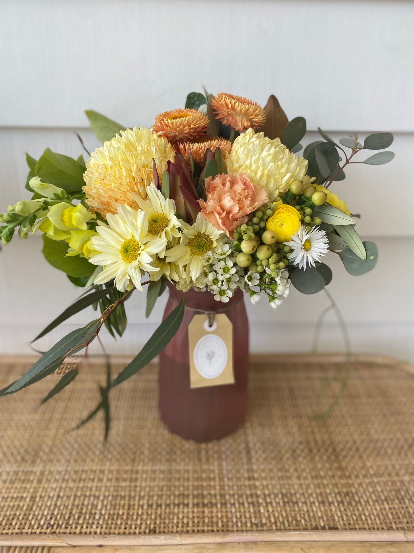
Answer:
<svg viewBox="0 0 414 553"><path fill-rule="evenodd" d="M266 191L253 184L247 175L217 175L205 179L206 201L199 200L201 215L229 238L247 216L269 201Z"/></svg>

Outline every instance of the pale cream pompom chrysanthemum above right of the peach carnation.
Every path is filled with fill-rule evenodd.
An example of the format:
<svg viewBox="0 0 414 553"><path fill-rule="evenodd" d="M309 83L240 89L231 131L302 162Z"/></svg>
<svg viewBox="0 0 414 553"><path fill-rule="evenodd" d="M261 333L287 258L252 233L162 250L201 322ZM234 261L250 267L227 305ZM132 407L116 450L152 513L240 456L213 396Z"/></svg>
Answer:
<svg viewBox="0 0 414 553"><path fill-rule="evenodd" d="M241 171L262 186L270 201L286 192L291 181L302 180L307 171L306 159L290 153L279 138L271 140L253 129L236 138L226 164L229 173L236 176Z"/></svg>

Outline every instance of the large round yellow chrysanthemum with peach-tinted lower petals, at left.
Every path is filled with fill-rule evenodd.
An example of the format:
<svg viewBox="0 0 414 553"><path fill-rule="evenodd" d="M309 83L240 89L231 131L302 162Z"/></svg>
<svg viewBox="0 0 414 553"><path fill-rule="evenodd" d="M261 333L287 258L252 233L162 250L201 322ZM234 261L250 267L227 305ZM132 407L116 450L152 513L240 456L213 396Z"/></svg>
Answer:
<svg viewBox="0 0 414 553"><path fill-rule="evenodd" d="M87 205L105 218L107 213L116 213L120 205L138 209L134 192L144 200L147 197L146 188L154 179L152 159L162 175L174 155L168 140L150 129L120 131L86 162L83 190Z"/></svg>

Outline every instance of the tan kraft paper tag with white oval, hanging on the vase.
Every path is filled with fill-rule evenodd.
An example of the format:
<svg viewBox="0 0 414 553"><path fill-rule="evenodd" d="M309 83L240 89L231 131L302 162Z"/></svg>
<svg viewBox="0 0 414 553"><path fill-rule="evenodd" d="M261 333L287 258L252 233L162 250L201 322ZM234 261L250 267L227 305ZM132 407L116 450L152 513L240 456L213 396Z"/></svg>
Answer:
<svg viewBox="0 0 414 553"><path fill-rule="evenodd" d="M208 315L195 315L188 326L190 386L202 388L232 384L233 325L224 313L209 327Z"/></svg>

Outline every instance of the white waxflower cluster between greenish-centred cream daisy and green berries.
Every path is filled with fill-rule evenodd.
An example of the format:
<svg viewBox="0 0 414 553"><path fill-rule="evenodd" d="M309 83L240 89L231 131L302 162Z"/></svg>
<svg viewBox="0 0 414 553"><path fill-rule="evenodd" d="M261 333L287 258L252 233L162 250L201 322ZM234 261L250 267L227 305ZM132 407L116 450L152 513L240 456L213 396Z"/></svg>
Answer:
<svg viewBox="0 0 414 553"><path fill-rule="evenodd" d="M203 255L205 266L197 279L200 291L208 290L217 301L227 302L244 282L243 269L236 264L233 243L227 237L217 241L211 252Z"/></svg>

